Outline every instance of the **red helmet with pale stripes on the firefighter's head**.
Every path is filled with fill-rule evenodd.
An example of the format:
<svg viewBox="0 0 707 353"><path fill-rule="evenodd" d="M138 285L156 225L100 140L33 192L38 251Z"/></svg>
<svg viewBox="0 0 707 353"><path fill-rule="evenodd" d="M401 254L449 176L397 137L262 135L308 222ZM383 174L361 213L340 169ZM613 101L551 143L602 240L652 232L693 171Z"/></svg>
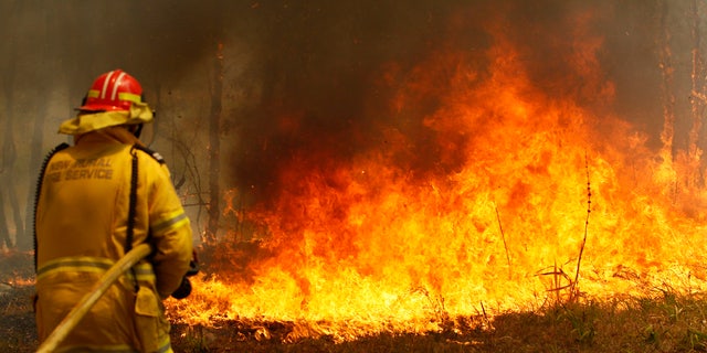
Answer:
<svg viewBox="0 0 707 353"><path fill-rule="evenodd" d="M105 73L94 81L80 110L130 110L133 103L143 103L143 86L122 69Z"/></svg>

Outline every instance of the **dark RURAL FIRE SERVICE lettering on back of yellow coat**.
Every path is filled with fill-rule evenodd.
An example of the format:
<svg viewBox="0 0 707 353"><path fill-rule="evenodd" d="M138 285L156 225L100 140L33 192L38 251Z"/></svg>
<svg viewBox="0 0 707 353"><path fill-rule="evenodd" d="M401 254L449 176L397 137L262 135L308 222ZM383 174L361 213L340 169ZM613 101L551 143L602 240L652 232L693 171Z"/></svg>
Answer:
<svg viewBox="0 0 707 353"><path fill-rule="evenodd" d="M56 161L50 163L46 179L52 182L63 180L113 179L109 159L78 159L75 161Z"/></svg>

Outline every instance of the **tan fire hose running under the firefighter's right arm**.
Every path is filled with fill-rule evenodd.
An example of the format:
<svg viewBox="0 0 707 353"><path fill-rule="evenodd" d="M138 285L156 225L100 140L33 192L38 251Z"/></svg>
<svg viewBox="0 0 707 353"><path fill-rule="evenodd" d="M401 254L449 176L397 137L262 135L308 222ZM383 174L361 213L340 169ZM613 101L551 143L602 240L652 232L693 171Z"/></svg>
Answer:
<svg viewBox="0 0 707 353"><path fill-rule="evenodd" d="M87 292L81 301L66 314L64 320L56 325L54 331L46 338L36 351L38 353L50 353L56 350L56 346L68 335L68 332L73 330L78 321L83 319L103 295L110 288L110 286L120 276L135 266L140 259L148 256L151 253L151 248L148 244L140 244L129 250L123 256L115 265L113 265L104 275L101 280L94 285L89 292Z"/></svg>

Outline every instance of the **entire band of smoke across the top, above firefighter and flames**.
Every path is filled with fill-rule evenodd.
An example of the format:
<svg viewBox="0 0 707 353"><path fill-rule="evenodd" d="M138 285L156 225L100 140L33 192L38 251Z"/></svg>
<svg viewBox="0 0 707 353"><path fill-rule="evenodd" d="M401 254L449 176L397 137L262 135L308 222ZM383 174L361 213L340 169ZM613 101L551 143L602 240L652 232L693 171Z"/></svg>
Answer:
<svg viewBox="0 0 707 353"><path fill-rule="evenodd" d="M323 161L346 161L386 148L390 143L386 129L415 141L409 158L400 160L401 168L419 174L445 172L463 160L439 162L434 131L422 124L425 114L437 107L436 98L423 97L397 115L391 113L391 100L414 79L414 68L439 52L465 51L483 72L488 63L482 53L494 44L488 25L500 23L499 29L517 44L535 85L550 95L571 95L597 111L614 111L642 126L656 143L663 124L661 38L664 26L675 38L689 33L679 24L688 4L661 0L0 0L3 104L36 106L33 99L62 87L66 108L51 114L65 116L96 75L122 67L143 82L148 98L158 88L162 101L162 95L179 90L180 97L187 97L183 104L203 107L211 97L208 83L213 79L215 47L223 43L225 71L239 74L224 76L222 146L226 150L222 156L229 165L222 172L233 185L253 190L253 200L277 194L283 164L296 160L303 168L326 168ZM576 50L572 29L578 23L573 21L582 13L591 17L589 34L604 39L599 60L602 78L616 85L611 106L597 100L578 63L567 61ZM685 62L688 44L671 45L673 64L689 64ZM394 74L386 76L391 65ZM450 79L443 71L436 75L440 86ZM194 76L207 84L191 86ZM680 81L689 77L675 78L677 90ZM158 108L169 111L169 107ZM7 109L10 117L3 119L21 121L28 111L48 114L20 110ZM184 111L182 120L208 114ZM460 148L463 143L458 141Z"/></svg>

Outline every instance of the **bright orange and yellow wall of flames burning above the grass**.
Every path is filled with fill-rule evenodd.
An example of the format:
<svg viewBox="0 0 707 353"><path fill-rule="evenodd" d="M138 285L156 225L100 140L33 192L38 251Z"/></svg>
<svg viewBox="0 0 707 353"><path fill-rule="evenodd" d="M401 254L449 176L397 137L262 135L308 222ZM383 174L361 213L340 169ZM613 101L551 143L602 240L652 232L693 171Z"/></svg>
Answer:
<svg viewBox="0 0 707 353"><path fill-rule="evenodd" d="M260 242L221 249L220 270L170 307L191 323L307 322L295 334L346 340L568 296L705 289L700 153L673 158L669 139L655 151L631 124L578 103L614 95L593 60L601 39L578 21L579 87L538 88L503 35L483 55L390 64L381 85L407 85L390 101L401 121L381 128L383 148L295 153L276 202L228 210L263 225ZM434 109L410 128L425 99Z"/></svg>

